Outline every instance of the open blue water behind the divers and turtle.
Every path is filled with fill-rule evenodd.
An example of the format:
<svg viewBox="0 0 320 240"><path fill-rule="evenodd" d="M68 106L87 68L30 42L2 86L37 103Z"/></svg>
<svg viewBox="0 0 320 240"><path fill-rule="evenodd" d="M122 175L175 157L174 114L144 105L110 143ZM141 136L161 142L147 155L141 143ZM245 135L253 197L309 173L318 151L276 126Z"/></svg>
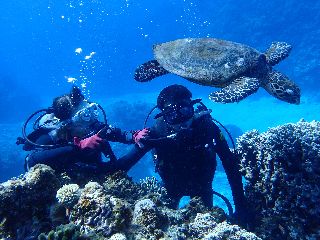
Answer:
<svg viewBox="0 0 320 240"><path fill-rule="evenodd" d="M67 93L68 79L75 78L86 96L102 103L110 120L125 129L142 126L157 93L174 83L190 88L215 117L242 131L319 120L320 1L3 0L0 9L1 181L23 172L24 153L14 144L22 122ZM134 69L153 58L153 44L184 37L222 38L262 52L272 41L292 44L291 55L276 69L301 87L301 105L280 102L264 90L239 104L212 104L207 96L215 89L177 76L134 81ZM128 113L123 105L117 109L121 100L149 105ZM132 175L153 174L150 164L150 159L140 163Z"/></svg>

